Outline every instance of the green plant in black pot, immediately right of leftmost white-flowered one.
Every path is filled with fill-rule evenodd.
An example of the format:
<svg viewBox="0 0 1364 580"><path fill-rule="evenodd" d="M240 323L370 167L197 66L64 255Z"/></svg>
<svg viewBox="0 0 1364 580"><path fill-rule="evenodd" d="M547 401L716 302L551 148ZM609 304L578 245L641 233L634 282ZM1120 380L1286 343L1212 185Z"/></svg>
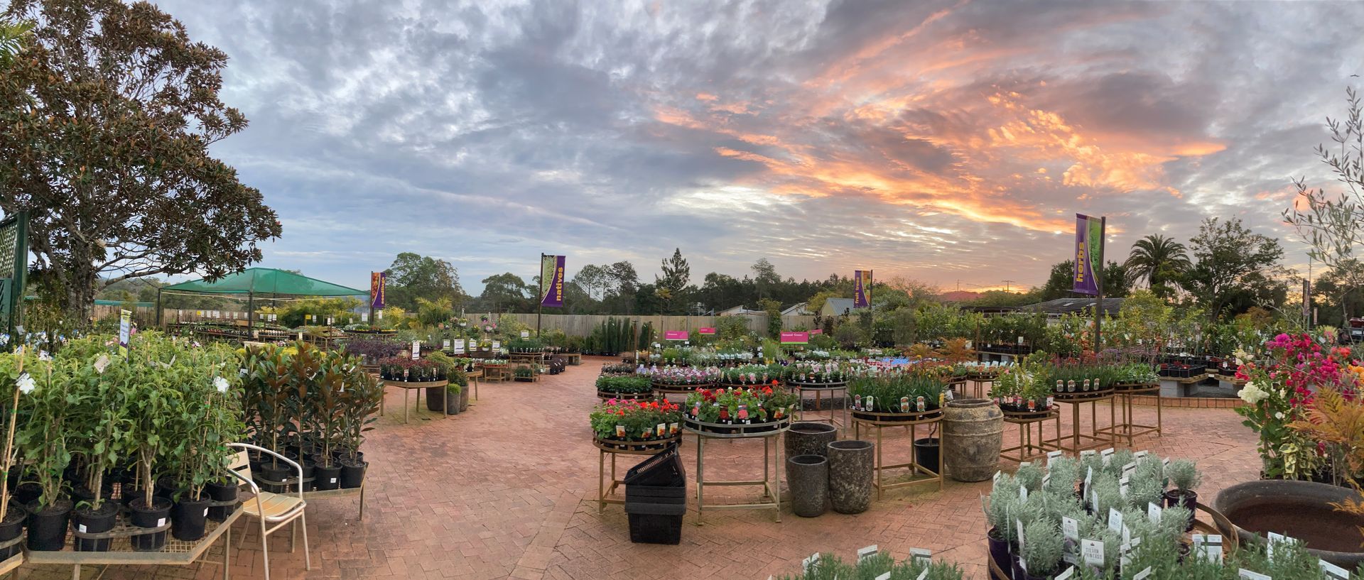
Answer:
<svg viewBox="0 0 1364 580"><path fill-rule="evenodd" d="M71 389L75 395L71 408L72 440L76 453L85 459L87 477L72 490L80 498L71 513L71 526L79 534L100 534L113 530L119 504L105 493L105 472L124 457L123 434L128 429L128 400L136 393L140 377L134 373L125 357L98 355L93 361L74 366ZM76 551L108 551L109 539L76 536Z"/></svg>

